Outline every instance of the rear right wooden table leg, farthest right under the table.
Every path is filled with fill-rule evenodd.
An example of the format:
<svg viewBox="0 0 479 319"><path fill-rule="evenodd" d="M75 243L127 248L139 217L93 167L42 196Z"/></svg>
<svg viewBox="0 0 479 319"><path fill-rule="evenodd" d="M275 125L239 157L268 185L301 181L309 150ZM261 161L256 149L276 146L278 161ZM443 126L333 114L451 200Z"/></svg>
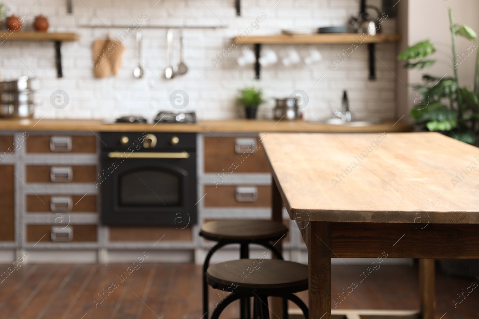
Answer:
<svg viewBox="0 0 479 319"><path fill-rule="evenodd" d="M436 296L434 292L434 259L419 259L419 286L422 319L434 319Z"/></svg>

